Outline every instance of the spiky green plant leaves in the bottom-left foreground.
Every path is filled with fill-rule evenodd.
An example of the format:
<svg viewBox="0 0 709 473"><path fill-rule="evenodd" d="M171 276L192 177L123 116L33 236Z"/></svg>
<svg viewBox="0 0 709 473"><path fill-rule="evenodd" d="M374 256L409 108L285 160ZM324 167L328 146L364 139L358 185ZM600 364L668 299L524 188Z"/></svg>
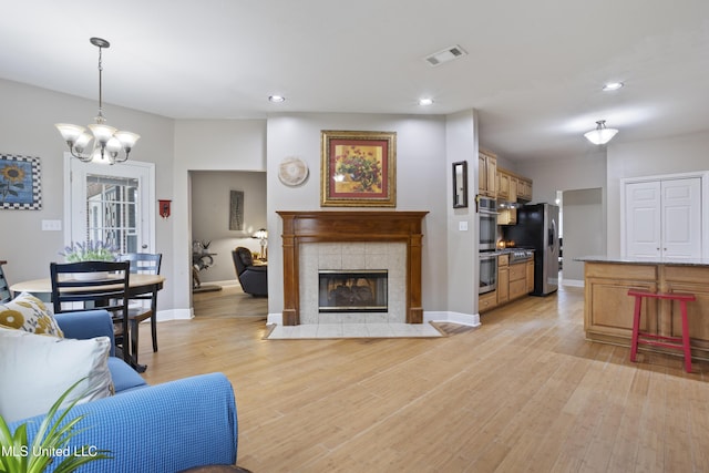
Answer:
<svg viewBox="0 0 709 473"><path fill-rule="evenodd" d="M18 426L14 434L12 434L10 433L10 428L7 422L2 415L0 415L0 449L2 450L2 455L0 455L0 472L41 473L47 471L47 467L55 459L61 457L63 460L56 465L54 472L70 473L86 463L112 459L112 456L110 456L111 452L107 450L96 450L95 446L89 445L82 445L81 448L74 448L72 450L68 446L72 438L85 430L80 429L78 425L85 415L79 415L64 425L61 425L81 397L76 397L59 415L56 413L69 393L84 379L85 378L80 379L72 384L56 402L52 404L52 408L42 420L40 429L31 443L28 442L27 424ZM52 452L56 454L53 455Z"/></svg>

